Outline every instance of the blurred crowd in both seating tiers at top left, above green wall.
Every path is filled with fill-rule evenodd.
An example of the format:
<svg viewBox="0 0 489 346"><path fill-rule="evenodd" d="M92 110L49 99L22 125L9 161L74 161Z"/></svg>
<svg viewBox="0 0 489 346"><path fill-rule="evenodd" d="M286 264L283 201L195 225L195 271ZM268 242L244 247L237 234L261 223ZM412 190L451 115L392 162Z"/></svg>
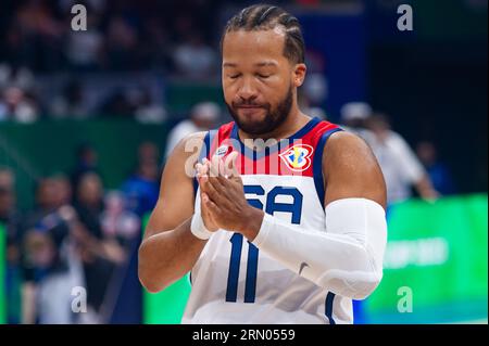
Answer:
<svg viewBox="0 0 489 346"><path fill-rule="evenodd" d="M221 1L23 0L2 1L0 12L0 121L39 117L87 118L95 114L162 121L165 110L149 90L120 88L96 107L87 105L79 76L152 71L178 78L217 75ZM73 30L71 9L87 9L87 30ZM193 11L188 11L191 8ZM46 102L39 76L68 74L54 100ZM108 77L110 78L110 77Z"/></svg>

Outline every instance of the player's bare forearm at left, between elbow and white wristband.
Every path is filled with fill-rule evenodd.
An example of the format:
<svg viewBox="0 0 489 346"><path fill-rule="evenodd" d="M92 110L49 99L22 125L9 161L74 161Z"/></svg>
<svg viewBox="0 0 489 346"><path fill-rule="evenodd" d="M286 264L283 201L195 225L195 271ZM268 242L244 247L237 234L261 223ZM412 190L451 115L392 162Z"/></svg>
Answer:
<svg viewBox="0 0 489 346"><path fill-rule="evenodd" d="M139 280L159 292L191 270L206 241L190 232L191 218L174 230L146 239L139 247Z"/></svg>

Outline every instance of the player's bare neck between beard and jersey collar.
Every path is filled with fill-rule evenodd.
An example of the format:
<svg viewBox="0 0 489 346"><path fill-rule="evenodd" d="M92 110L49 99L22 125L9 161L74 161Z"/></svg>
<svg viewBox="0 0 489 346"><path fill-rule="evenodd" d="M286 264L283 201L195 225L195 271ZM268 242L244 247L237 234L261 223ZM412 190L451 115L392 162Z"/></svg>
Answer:
<svg viewBox="0 0 489 346"><path fill-rule="evenodd" d="M239 138L244 139L276 139L277 141L288 138L299 131L305 124L308 124L311 120L311 117L302 113L297 104L293 104L288 117L285 119L284 123L281 123L277 128L274 130L262 133L262 134L251 134L242 131L241 129L238 130Z"/></svg>

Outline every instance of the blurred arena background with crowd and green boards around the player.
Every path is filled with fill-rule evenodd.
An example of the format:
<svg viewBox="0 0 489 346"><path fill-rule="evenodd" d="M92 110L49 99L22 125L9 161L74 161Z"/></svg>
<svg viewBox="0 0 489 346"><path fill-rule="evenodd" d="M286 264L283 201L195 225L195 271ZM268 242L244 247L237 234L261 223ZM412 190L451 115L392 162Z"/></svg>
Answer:
<svg viewBox="0 0 489 346"><path fill-rule="evenodd" d="M436 201L413 190L390 205L384 280L355 306L355 322L487 323L487 1L271 2L303 27L304 104L340 123L346 103L368 102L413 149L430 142L452 177L451 191ZM86 5L87 31L71 28L75 3ZM171 129L199 102L215 102L218 123L230 120L218 40L226 20L252 3L2 1L1 323L179 323L188 279L143 292L137 248ZM397 25L405 3L412 31ZM83 180L87 172L91 179ZM71 187L80 180L95 196ZM90 197L98 198L95 214L80 203ZM85 210L91 236L73 235L66 206ZM87 257L63 247L70 236L85 244ZM103 248L105 271L93 269L90 246ZM66 275L70 256L83 258L82 269L73 267L78 277ZM62 269L51 271L55 266ZM70 308L78 297L74 278L91 282L96 308L57 315L60 299Z"/></svg>

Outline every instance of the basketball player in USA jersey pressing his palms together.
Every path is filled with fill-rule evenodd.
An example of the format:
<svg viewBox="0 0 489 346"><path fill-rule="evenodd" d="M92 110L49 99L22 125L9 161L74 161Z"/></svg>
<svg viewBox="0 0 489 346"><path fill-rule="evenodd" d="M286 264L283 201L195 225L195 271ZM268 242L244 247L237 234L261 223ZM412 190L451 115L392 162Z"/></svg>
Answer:
<svg viewBox="0 0 489 346"><path fill-rule="evenodd" d="M235 121L188 137L170 156L140 281L159 292L190 271L183 323L352 323L352 299L383 277L377 162L361 139L298 108L306 66L289 13L242 10L224 30L222 57ZM196 139L202 159L188 150Z"/></svg>

